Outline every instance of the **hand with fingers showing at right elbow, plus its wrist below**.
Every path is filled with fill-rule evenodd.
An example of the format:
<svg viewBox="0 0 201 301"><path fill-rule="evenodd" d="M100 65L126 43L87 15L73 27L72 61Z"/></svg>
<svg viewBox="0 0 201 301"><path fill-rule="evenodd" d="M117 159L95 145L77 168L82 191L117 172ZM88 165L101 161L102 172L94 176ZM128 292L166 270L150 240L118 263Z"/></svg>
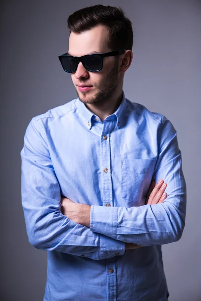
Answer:
<svg viewBox="0 0 201 301"><path fill-rule="evenodd" d="M154 205L154 204L162 203L167 197L167 194L164 192L166 187L167 184L164 183L162 179L158 181L156 186L155 186L155 181L153 180L151 182L151 185L149 186L145 205ZM131 242L126 242L126 250L133 250L141 247L144 246L140 246Z"/></svg>

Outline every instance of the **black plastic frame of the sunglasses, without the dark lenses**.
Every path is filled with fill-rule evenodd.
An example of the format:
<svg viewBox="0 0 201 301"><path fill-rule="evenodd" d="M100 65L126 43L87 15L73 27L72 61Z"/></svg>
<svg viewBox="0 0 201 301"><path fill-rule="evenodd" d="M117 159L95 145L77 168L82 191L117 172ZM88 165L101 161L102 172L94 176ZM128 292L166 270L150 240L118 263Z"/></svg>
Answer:
<svg viewBox="0 0 201 301"><path fill-rule="evenodd" d="M83 56L81 56L81 57L76 57L76 56L73 56L73 55L69 55L68 53L64 53L64 54L62 54L62 55L59 56L59 61L61 62L61 66L62 66L63 70L64 70L65 72L67 72L67 73L73 73L73 72L75 72L75 71L77 70L77 66L78 66L79 62L82 63L82 65L84 66L84 68L85 68L87 71L90 71L90 72L97 72L97 71L100 71L100 70L103 69L103 66L104 66L104 62L103 62L104 60L103 60L103 58L105 58L105 57L110 57L110 56L121 55L121 54L123 54L126 50L127 50L127 49L120 49L120 50L115 50L115 51L110 51L110 52L104 52L104 53L90 53L90 54L83 55ZM83 60L84 60L85 57L88 57L88 56L90 56L90 55L97 55L97 56L99 56L99 57L101 58L102 66L101 66L100 69L98 69L98 70L90 70L90 69L86 68L86 66L85 66L84 63L83 63ZM63 58L63 57L73 57L73 58L76 59L76 68L75 68L73 71L66 71L66 70L64 69L64 67L63 67L63 65L62 65L62 58Z"/></svg>

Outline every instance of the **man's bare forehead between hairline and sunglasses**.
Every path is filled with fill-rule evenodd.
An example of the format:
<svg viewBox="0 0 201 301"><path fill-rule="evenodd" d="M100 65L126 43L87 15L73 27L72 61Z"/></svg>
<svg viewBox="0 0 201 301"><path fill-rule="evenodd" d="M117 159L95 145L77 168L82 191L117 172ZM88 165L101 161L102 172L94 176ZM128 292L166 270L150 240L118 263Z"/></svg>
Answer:
<svg viewBox="0 0 201 301"><path fill-rule="evenodd" d="M68 53L82 56L89 53L110 51L108 47L108 31L103 25L98 25L81 34L71 32Z"/></svg>

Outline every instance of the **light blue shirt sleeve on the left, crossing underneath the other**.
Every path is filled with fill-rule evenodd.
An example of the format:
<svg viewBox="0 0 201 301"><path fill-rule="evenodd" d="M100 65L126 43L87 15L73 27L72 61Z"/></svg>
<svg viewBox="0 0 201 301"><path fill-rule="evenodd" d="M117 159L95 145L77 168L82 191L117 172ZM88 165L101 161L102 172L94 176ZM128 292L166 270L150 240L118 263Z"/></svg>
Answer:
<svg viewBox="0 0 201 301"><path fill-rule="evenodd" d="M22 206L27 235L33 246L94 260L124 254L125 242L91 232L61 213L60 186L44 132L35 117L26 129L20 154Z"/></svg>

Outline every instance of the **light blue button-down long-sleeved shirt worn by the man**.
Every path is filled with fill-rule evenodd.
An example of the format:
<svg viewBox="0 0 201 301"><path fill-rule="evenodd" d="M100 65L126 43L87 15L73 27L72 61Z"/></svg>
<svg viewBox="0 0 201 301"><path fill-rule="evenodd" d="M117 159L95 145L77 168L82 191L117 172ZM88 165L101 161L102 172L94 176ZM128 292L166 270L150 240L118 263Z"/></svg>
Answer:
<svg viewBox="0 0 201 301"><path fill-rule="evenodd" d="M79 98L32 118L22 206L29 242L48 255L44 301L167 300L161 245L180 239L186 212L176 134L124 91L104 122ZM152 179L167 198L145 205ZM90 228L61 213L61 194L91 205Z"/></svg>

